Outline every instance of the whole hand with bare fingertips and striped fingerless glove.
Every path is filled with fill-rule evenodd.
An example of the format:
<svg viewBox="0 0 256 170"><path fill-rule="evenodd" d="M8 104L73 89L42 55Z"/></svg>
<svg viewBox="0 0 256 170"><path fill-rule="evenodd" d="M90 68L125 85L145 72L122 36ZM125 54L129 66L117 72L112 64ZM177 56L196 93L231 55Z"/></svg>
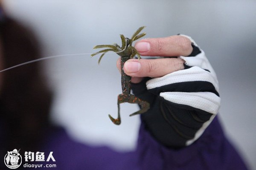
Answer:
<svg viewBox="0 0 256 170"><path fill-rule="evenodd" d="M142 120L151 134L166 146L192 144L220 107L218 80L204 51L184 35L141 40L135 48L141 55L180 56L130 59L124 71L138 83L132 84L135 96L150 102L151 108L142 114Z"/></svg>

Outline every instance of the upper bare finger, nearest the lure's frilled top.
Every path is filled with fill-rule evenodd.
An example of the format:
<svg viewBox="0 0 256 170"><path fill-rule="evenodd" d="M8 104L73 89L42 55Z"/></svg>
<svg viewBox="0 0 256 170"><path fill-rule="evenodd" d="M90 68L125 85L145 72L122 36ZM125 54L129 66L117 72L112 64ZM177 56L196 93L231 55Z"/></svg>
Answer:
<svg viewBox="0 0 256 170"><path fill-rule="evenodd" d="M134 47L142 56L189 56L193 51L191 40L179 35L143 39Z"/></svg>

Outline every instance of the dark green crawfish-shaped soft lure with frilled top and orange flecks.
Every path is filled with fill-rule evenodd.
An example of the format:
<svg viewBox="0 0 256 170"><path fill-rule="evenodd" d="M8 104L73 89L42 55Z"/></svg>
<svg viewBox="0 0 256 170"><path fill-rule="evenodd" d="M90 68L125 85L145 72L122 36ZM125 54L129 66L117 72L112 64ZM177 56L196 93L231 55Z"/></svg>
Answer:
<svg viewBox="0 0 256 170"><path fill-rule="evenodd" d="M113 51L116 54L118 54L121 57L121 68L122 68L122 73L121 73L121 84L122 84L122 94L118 95L117 98L117 105L118 105L118 117L117 119L114 119L111 115L108 115L111 121L116 124L120 125L121 123L121 118L120 118L120 104L124 102L128 103L137 103L140 105L140 111L137 111L135 113L130 114L130 116L145 113L149 109L149 103L146 101L143 101L142 99L139 99L138 97L134 96L131 94L131 76L128 76L124 72L124 64L128 59L133 58L135 55L137 55L138 59L140 59L140 54L139 52L132 46L132 42L135 40L138 40L139 38L145 36L146 33L141 33L140 31L143 30L145 26L140 27L135 31L135 33L132 35L131 39L126 38L124 35L120 35L121 40L122 40L122 47L120 47L118 44L113 44L113 45L96 45L93 49L97 48L107 48L101 51L98 51L94 54L91 54L91 57L102 53L102 55L99 57L99 61L102 59L104 54L108 51Z"/></svg>

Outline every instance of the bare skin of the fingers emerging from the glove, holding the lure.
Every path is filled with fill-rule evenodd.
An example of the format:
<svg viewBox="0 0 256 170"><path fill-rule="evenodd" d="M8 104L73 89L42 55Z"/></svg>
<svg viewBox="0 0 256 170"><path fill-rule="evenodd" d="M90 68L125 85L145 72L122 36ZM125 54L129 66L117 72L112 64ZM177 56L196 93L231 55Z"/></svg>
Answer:
<svg viewBox="0 0 256 170"><path fill-rule="evenodd" d="M135 48L142 56L160 57L187 56L193 50L189 38L178 35L140 40L135 44ZM139 83L143 77L162 77L182 70L184 62L181 58L129 59L125 62L124 71L132 77L131 82ZM120 58L116 65L121 71Z"/></svg>

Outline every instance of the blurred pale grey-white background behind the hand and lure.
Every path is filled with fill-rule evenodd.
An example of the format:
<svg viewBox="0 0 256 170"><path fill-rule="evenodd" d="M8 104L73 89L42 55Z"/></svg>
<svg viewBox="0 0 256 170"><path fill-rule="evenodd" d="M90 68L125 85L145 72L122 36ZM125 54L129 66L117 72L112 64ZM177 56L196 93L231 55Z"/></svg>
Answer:
<svg viewBox="0 0 256 170"><path fill-rule="evenodd" d="M256 1L254 0L3 0L6 12L37 34L41 62L55 92L52 121L67 128L74 139L116 150L136 147L139 116L129 117L137 105L122 104L116 54L101 64L90 58L94 45L121 43L147 26L146 37L190 35L206 52L220 83L219 116L228 138L248 166L256 169ZM90 54L89 54L90 53Z"/></svg>

